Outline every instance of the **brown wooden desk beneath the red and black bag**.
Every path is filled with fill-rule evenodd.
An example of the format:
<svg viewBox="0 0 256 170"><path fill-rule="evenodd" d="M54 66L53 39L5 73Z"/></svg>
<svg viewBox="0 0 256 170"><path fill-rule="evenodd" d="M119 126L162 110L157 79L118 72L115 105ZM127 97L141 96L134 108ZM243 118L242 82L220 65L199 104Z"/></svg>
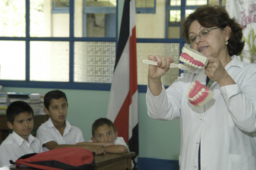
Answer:
<svg viewBox="0 0 256 170"><path fill-rule="evenodd" d="M131 170L132 156L135 152L126 154L106 153L104 155L95 155L94 170ZM0 170L35 170L36 168L22 166L5 166Z"/></svg>

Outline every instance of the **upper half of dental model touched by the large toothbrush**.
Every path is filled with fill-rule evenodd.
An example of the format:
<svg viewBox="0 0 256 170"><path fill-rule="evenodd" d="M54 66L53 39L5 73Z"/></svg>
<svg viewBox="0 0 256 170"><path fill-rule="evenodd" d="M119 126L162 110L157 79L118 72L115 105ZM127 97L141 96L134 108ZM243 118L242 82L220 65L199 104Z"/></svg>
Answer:
<svg viewBox="0 0 256 170"><path fill-rule="evenodd" d="M197 50L183 47L180 61L195 68L202 69L209 62L209 58L204 56L204 54L197 52Z"/></svg>

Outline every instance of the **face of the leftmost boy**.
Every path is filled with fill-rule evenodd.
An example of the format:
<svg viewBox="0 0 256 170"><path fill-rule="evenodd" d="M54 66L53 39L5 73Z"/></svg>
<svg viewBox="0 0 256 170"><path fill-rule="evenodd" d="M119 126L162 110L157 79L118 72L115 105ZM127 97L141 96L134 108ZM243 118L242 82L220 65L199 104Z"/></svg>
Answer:
<svg viewBox="0 0 256 170"><path fill-rule="evenodd" d="M15 133L20 135L25 140L28 140L28 136L33 130L33 126L33 115L27 111L18 114L18 116L15 116L13 124L8 122L9 129L13 129Z"/></svg>

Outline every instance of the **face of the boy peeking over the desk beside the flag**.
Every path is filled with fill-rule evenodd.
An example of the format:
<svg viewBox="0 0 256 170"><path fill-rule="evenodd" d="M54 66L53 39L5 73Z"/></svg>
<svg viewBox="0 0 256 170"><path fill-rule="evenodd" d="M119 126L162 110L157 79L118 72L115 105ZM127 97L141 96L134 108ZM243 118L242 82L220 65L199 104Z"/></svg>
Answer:
<svg viewBox="0 0 256 170"><path fill-rule="evenodd" d="M104 124L103 126L98 127L97 130L95 130L95 137L92 137L93 142L111 142L114 143L114 141L117 138L117 131L114 133L114 129L111 126L108 126L107 124Z"/></svg>

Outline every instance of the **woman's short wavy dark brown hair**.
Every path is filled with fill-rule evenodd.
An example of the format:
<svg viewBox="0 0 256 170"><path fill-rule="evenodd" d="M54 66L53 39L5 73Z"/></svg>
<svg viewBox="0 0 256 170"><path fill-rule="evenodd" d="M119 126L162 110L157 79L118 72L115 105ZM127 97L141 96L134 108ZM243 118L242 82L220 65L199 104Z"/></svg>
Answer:
<svg viewBox="0 0 256 170"><path fill-rule="evenodd" d="M193 21L197 20L199 24L205 28L220 27L222 30L231 27L231 36L228 40L229 55L239 55L244 49L244 41L242 41L242 27L236 23L235 18L230 18L225 8L213 5L203 5L189 14L183 20L182 36L188 39L188 29Z"/></svg>

